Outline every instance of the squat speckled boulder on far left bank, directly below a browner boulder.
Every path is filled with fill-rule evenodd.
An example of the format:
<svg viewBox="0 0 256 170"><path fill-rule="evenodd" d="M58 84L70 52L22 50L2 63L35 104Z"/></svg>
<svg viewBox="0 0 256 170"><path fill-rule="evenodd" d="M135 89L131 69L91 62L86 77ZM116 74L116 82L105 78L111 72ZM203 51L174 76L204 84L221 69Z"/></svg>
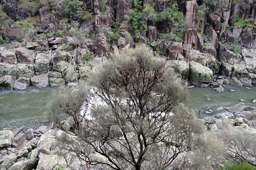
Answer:
<svg viewBox="0 0 256 170"><path fill-rule="evenodd" d="M35 69L32 64L17 64L16 77L32 77Z"/></svg>

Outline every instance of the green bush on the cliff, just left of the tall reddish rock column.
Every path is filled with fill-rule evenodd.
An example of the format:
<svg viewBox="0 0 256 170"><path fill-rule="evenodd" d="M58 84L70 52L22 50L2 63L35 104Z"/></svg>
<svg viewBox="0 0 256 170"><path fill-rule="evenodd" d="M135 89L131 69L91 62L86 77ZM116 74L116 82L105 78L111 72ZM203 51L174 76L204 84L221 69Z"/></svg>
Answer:
<svg viewBox="0 0 256 170"><path fill-rule="evenodd" d="M184 38L184 33L187 30L185 17L182 12L178 11L178 5L174 4L172 9L167 8L165 11L159 13L156 17L157 22L168 22L168 24L173 24L174 29L172 31L167 31L167 33L162 33L160 36L165 41L177 41L181 42Z"/></svg>

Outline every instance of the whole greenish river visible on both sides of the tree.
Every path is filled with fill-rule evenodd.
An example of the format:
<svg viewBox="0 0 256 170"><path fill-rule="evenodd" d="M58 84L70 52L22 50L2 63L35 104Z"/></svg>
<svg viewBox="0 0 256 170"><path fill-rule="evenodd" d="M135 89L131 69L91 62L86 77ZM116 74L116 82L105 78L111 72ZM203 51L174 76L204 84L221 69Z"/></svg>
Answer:
<svg viewBox="0 0 256 170"><path fill-rule="evenodd" d="M43 112L47 110L47 102L50 100L51 93L56 87L37 88L28 86L26 90L0 90L0 130L7 127L35 128L46 125L43 119ZM233 89L235 92L231 92ZM194 109L198 117L214 116L219 113L226 114L223 110L225 106L238 104L239 99L244 99L246 109L256 107L251 100L256 98L256 86L250 89L236 88L226 85L225 91L218 93L211 87L194 87L189 89L189 97L185 102L191 109ZM206 99L210 98L211 101ZM205 111L211 109L212 114Z"/></svg>

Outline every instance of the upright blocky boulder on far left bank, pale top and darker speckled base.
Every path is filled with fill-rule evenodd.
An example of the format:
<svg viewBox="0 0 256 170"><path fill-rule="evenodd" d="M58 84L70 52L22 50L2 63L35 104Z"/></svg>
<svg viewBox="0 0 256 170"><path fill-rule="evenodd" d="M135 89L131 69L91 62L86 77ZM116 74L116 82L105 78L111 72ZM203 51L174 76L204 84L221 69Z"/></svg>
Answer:
<svg viewBox="0 0 256 170"><path fill-rule="evenodd" d="M39 73L47 73L50 68L51 56L44 53L38 53L35 61L35 71Z"/></svg>

